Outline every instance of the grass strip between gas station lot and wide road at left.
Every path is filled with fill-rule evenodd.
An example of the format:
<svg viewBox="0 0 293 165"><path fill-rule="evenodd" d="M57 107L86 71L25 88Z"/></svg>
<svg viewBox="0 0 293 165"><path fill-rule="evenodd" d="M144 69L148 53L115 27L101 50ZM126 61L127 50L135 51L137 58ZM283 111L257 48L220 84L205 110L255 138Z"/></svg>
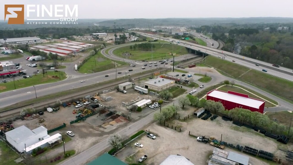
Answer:
<svg viewBox="0 0 293 165"><path fill-rule="evenodd" d="M60 79L64 80L66 79L66 74L63 71L54 72L54 71L47 71L47 74L45 74L45 77L43 77L43 74L36 74L32 75L30 78L22 78L21 80L15 80L15 87L16 89L25 88L33 85L39 85L39 84L46 84L46 83L54 83L57 81L61 81L59 79L59 73L60 73ZM54 76L54 77L53 77ZM13 79L12 81L9 81L7 83L0 84L0 93L15 90Z"/></svg>

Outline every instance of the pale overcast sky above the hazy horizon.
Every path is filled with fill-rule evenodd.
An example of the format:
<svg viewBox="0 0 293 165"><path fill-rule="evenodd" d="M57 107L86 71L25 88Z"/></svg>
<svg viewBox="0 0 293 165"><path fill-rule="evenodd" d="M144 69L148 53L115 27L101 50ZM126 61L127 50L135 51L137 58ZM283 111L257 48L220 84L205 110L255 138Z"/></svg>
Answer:
<svg viewBox="0 0 293 165"><path fill-rule="evenodd" d="M1 0L1 20L4 3L77 4L79 19L293 17L293 0Z"/></svg>

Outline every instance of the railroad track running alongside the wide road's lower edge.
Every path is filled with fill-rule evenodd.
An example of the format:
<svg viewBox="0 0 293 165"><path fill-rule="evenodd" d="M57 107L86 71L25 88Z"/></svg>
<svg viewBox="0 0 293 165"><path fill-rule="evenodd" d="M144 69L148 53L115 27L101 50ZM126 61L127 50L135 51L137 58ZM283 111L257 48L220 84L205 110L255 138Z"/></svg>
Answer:
<svg viewBox="0 0 293 165"><path fill-rule="evenodd" d="M169 68L163 68L161 71L167 71L169 70ZM140 78L143 78L143 77L147 77L149 75L149 73L147 74L143 74L143 75L140 75L140 76L135 76L133 77L132 79L136 80L136 79L140 79ZM92 93L93 91L96 91L96 92L100 92L100 91L103 91L103 90L107 90L109 88L113 88L113 87L116 87L117 85L121 84L121 83L124 83L125 80L120 80L118 82L115 82L115 83L111 83L111 84L106 84L106 85L102 85L102 86L99 86L99 87L96 87L96 88L91 88L91 89L88 89L88 90L83 90L81 92L78 92L78 93L75 93L75 94L67 94L67 95L64 95L64 96L61 96L61 98L59 98L59 100L61 102L66 102L66 101L70 101L72 99L76 99L76 98L79 98L81 96L84 96L86 94L90 94ZM41 105L38 105L38 106L35 106L33 108L37 109L37 108L42 108L42 107L45 107L46 105L52 105L54 103L56 103L56 100L58 98L52 98L52 99L48 99L46 101L50 101L52 100L52 102L46 102L44 104L41 104ZM54 101L53 101L54 100ZM44 102L44 101L41 101L41 102ZM17 112L12 112L10 114L7 114L7 115L1 115L0 116L0 119L3 119L3 118L7 118L9 116L14 116L16 114L19 114L21 109L24 109L24 108L31 108L31 107L28 107L30 105L34 105L34 104L38 104L38 103L41 103L41 102L36 102L36 103L32 103L32 104L29 104L29 105L25 105L25 106L22 106L22 107L17 107L17 108L13 108L13 109L9 109L9 110L5 110L5 111L2 111L1 113L4 113L4 112L8 112L8 111L12 111L12 110L17 110ZM21 108L21 109L20 109ZM19 110L18 110L19 109ZM0 114L1 114L0 113Z"/></svg>

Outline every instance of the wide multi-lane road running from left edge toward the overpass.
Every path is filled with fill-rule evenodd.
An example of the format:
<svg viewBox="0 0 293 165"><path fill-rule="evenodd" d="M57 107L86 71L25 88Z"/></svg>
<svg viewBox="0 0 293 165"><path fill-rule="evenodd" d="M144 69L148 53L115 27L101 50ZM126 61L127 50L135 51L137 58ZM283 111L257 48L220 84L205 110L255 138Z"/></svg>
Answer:
<svg viewBox="0 0 293 165"><path fill-rule="evenodd" d="M155 67L149 67L149 66L145 68L146 69L141 69L141 67L136 66L136 67L127 67L127 68L117 69L117 72L122 72L121 74L117 74L117 78L125 76L125 71L128 71L128 69L133 69L133 71L130 71L129 73L127 73L127 75L155 69ZM105 77L105 75L109 75L109 77ZM116 77L116 70L112 69L112 70L102 71L99 73L85 74L83 76L76 77L76 78L68 77L66 80L63 80L63 81L59 81L56 83L35 85L35 87L36 87L37 97L39 97L39 96L45 96L48 94L57 93L60 91L66 91L70 89L74 90L74 88L79 88L82 86L115 79L115 77ZM81 80L85 80L85 82L80 83ZM9 105L12 105L16 102L21 102L27 99L35 98L35 88L27 87L22 89L16 89L14 91L3 92L3 93L0 93L0 98L1 98L0 108L3 108Z"/></svg>

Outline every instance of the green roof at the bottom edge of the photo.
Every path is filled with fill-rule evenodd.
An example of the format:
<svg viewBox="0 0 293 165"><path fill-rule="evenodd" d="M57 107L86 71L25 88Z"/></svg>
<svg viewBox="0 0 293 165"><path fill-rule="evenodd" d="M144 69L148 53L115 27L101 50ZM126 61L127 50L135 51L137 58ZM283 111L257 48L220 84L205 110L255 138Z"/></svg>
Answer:
<svg viewBox="0 0 293 165"><path fill-rule="evenodd" d="M98 158L90 162L88 165L127 165L127 164L108 153L104 153L103 155L99 156Z"/></svg>

